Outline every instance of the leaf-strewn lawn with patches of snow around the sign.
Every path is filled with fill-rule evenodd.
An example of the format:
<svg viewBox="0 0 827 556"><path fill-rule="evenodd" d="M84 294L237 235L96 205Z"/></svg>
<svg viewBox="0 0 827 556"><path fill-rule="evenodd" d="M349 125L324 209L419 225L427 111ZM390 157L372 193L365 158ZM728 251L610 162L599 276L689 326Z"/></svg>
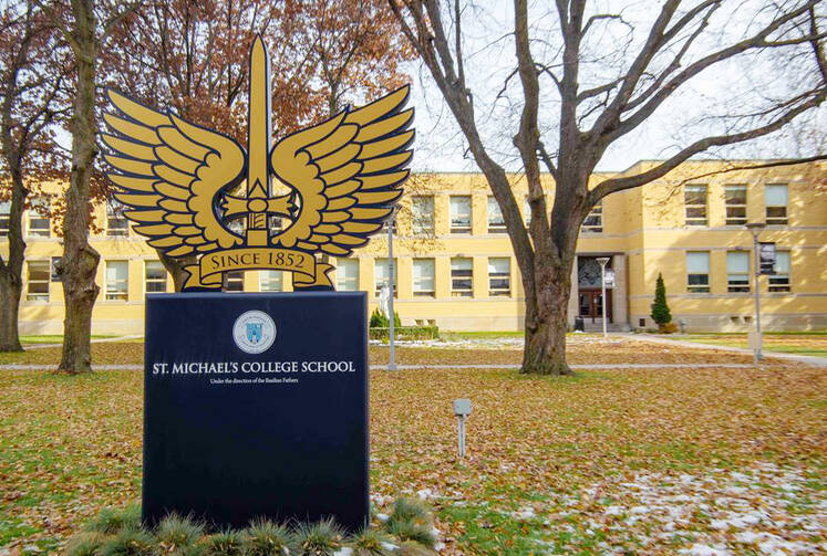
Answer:
<svg viewBox="0 0 827 556"><path fill-rule="evenodd" d="M96 344L97 363L141 344ZM52 365L54 349L6 356ZM411 365L514 364L486 343L403 347ZM374 363L386 348L372 347ZM744 363L632 340L571 338L572 363ZM0 371L0 554L54 550L103 506L139 499L142 376ZM371 374L372 500L426 499L445 554L759 554L824 548L827 373L752 368ZM468 457L451 401L469 397ZM820 520L820 522L819 522ZM6 548L2 548L2 547ZM820 548L819 548L820 547ZM712 554L712 553L706 553Z"/></svg>

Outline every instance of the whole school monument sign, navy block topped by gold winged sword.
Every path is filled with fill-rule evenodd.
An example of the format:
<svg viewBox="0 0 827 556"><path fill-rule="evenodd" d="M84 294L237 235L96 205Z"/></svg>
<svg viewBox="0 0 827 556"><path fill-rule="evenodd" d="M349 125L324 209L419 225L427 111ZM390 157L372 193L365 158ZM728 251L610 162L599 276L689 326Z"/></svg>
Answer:
<svg viewBox="0 0 827 556"><path fill-rule="evenodd" d="M246 149L106 93L114 197L149 245L186 261L185 293L146 303L151 523L368 520L366 298L333 292L321 255L364 245L402 195L409 88L272 145L268 66L257 38ZM250 270L291 273L296 293L220 293L224 273Z"/></svg>

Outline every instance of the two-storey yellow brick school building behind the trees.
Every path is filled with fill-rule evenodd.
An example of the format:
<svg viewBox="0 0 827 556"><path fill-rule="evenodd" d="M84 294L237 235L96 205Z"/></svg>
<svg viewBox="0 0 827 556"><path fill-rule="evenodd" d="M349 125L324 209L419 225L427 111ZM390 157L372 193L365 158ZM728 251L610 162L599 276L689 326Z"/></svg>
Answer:
<svg viewBox="0 0 827 556"><path fill-rule="evenodd" d="M754 161L753 161L754 162ZM657 161L624 170L634 175ZM587 218L578 240L569 319L601 324L600 266L608 256L614 285L607 295L613 329L647 328L658 273L663 274L673 319L689 331L743 331L752 326L753 240L745 222L765 222L761 241L775 242L776 274L759 279L766 329L827 328L827 167L798 165L711 174L717 161L693 161L661 180L606 198ZM711 174L711 175L710 175ZM598 182L616 174L593 177ZM694 178L692 178L694 176ZM525 201L526 185L514 177ZM554 191L547 179L548 193ZM479 174L418 175L409 185L394 241L396 310L403 324L443 329L513 331L523 323L519 270L496 203ZM521 202L524 214L527 203ZM144 296L169 292L155 251L117 211L97 207L92 245L101 253L94 310L95 334L142 333ZM52 275L60 239L46 219L25 219L25 287L21 333L60 334L61 284ZM0 234L8 206L0 206ZM8 243L0 239L0 250ZM369 292L371 310L387 276L386 234L348 260L337 261L340 290ZM289 291L280 272L247 272L232 291Z"/></svg>

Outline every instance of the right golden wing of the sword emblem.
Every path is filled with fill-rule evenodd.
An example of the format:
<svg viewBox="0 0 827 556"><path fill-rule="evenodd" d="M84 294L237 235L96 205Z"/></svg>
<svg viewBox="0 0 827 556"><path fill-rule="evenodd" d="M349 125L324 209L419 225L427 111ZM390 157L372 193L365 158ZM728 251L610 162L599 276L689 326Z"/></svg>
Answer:
<svg viewBox="0 0 827 556"><path fill-rule="evenodd" d="M281 139L273 172L301 197L301 210L273 243L347 256L382 228L410 170L409 86Z"/></svg>

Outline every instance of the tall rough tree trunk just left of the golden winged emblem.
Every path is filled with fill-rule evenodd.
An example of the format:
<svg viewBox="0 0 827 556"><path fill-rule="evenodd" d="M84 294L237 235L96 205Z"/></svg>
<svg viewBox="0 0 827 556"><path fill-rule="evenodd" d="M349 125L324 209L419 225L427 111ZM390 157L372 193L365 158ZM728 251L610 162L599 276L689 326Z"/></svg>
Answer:
<svg viewBox="0 0 827 556"><path fill-rule="evenodd" d="M59 264L63 283L65 318L63 355L58 371L92 370L92 307L100 292L95 283L101 255L89 244L89 202L92 164L97 155L95 133L95 36L94 2L73 0L74 59L77 85L72 117L72 175L66 190L63 221L63 256Z"/></svg>

